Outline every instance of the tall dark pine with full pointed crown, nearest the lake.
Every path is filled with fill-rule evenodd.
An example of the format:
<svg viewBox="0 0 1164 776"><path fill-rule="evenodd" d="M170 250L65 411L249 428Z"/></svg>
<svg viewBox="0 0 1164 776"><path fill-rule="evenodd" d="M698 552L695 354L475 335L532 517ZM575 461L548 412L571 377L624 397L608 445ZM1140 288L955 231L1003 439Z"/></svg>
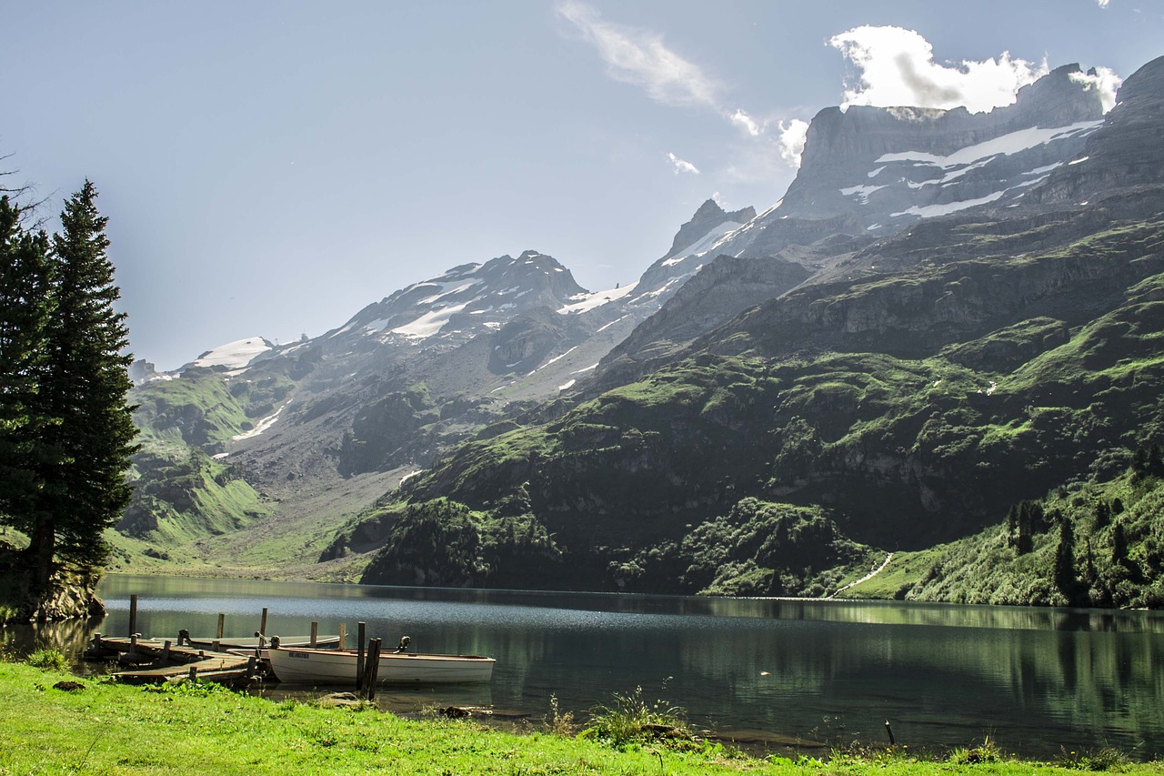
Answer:
<svg viewBox="0 0 1164 776"><path fill-rule="evenodd" d="M50 253L55 309L38 403L56 421L45 432L48 449L61 454L42 472L41 508L30 531L38 591L48 588L58 563L84 571L104 564L108 548L101 534L132 494L126 472L137 432L126 394L133 357L122 354L126 315L113 310L120 290L106 256L108 219L98 213L95 198L86 181L65 203Z"/></svg>

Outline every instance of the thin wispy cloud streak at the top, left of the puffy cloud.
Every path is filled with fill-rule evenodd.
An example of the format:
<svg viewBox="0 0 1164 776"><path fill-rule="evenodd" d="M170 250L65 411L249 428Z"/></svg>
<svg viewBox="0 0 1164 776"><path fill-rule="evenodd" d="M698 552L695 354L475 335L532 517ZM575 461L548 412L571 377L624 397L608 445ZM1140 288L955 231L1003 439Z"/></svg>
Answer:
<svg viewBox="0 0 1164 776"><path fill-rule="evenodd" d="M715 80L668 49L658 33L603 21L597 10L576 0L559 3L558 14L597 49L611 78L641 86L666 105L716 106Z"/></svg>

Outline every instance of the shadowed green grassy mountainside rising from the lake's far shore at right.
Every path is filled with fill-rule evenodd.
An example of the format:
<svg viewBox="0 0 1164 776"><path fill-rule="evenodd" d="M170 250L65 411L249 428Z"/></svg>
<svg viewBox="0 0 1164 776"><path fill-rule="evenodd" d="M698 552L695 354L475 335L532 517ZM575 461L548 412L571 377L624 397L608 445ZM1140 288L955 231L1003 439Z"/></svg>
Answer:
<svg viewBox="0 0 1164 776"><path fill-rule="evenodd" d="M346 529L360 550L382 548L365 581L411 584L449 566L402 528L447 499L442 509L463 508L467 538L442 584L510 573L485 550L514 521L552 543L532 586L819 594L904 550L886 574L921 557L909 552L929 563L915 563L894 594L978 600L965 581L973 572L930 574L931 548L994 546L1003 529L988 527L1015 503L1110 481L1130 451L1161 437L1164 220L1107 218L1094 233L1060 228L1050 244L1036 227L1038 240L1023 244L1042 249L1014 256L989 246L1030 228L925 230L943 231L938 261L803 287L697 340L683 360L443 457ZM900 259L917 239L878 251ZM1046 530L1009 566L1042 570ZM1151 532L1127 530L1134 546ZM1092 537L1092 555L1103 541ZM345 546L341 536L329 552ZM1150 598L1080 574L1093 592L1016 584L999 594Z"/></svg>

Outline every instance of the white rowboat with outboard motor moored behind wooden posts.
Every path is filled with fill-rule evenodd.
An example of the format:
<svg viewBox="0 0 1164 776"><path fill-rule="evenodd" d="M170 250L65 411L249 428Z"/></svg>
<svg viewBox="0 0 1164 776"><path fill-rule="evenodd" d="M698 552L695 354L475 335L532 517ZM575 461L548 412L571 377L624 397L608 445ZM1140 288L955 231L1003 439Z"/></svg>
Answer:
<svg viewBox="0 0 1164 776"><path fill-rule="evenodd" d="M267 650L279 682L299 684L354 684L356 650L279 647ZM410 655L379 652L377 682L382 684L457 684L489 682L492 657L478 655Z"/></svg>

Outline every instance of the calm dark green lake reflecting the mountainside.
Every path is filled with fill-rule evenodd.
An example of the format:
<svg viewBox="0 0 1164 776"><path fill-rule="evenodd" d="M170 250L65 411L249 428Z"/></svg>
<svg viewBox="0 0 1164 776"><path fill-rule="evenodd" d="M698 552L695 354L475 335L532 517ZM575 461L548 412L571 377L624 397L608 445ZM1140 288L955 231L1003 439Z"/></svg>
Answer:
<svg viewBox="0 0 1164 776"><path fill-rule="evenodd" d="M1164 755L1164 614L900 602L463 591L109 576L108 615L90 628L8 629L79 649L92 630L335 634L356 623L414 651L490 655L491 685L385 691L393 710L491 706L537 724L560 707L584 717L612 693L647 700L741 740L953 747L986 735L1025 756L1116 746ZM264 689L281 697L286 690ZM301 690L296 690L301 692Z"/></svg>

